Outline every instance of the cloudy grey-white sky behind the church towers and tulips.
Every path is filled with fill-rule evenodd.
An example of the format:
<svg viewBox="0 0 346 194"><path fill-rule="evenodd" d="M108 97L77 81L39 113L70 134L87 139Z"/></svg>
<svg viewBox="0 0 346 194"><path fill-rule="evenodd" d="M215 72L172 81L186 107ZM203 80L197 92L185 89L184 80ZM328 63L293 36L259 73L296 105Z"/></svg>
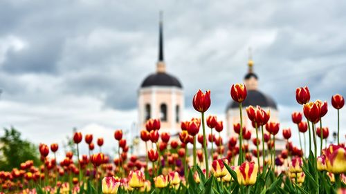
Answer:
<svg viewBox="0 0 346 194"><path fill-rule="evenodd" d="M196 115L190 101L199 88L212 91L210 113L224 117L251 47L260 90L277 101L282 127L295 130L295 88L307 85L311 99L329 102L325 125L336 130L330 99L346 95L345 8L344 1L0 1L0 126L48 144L76 127L107 136L110 149L115 128L134 128L163 10L167 71L183 84L185 118ZM340 115L345 129L345 108Z"/></svg>

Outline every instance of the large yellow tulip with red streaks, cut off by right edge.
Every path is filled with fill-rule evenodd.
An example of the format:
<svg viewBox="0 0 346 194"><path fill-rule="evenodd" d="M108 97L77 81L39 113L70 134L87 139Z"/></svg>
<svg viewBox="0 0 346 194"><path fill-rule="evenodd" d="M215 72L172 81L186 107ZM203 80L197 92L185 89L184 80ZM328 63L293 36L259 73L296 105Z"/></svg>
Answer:
<svg viewBox="0 0 346 194"><path fill-rule="evenodd" d="M329 173L346 173L346 148L344 145L330 145L325 150L325 160Z"/></svg>

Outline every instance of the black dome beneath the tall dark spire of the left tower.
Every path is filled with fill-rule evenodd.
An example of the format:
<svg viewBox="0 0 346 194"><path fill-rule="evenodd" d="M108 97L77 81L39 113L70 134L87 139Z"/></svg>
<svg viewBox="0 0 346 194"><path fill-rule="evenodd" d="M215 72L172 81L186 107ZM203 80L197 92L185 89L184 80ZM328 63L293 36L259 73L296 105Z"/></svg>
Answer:
<svg viewBox="0 0 346 194"><path fill-rule="evenodd" d="M146 88L150 86L176 86L178 88L183 88L178 79L165 72L158 72L149 75L144 79L142 85L140 85L140 88Z"/></svg>

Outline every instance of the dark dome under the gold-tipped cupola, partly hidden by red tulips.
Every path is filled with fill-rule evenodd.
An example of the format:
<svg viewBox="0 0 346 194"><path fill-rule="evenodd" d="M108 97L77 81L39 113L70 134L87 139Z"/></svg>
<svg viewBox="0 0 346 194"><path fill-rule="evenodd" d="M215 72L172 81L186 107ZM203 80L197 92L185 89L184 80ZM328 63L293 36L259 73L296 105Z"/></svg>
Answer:
<svg viewBox="0 0 346 194"><path fill-rule="evenodd" d="M258 90L248 90L248 95L246 99L242 102L242 106L261 106L261 107L269 107L277 110L277 106L275 104L275 101L271 99L271 97L268 97L261 93ZM236 101L230 102L230 104L227 107L227 110L230 108L239 108L239 103Z"/></svg>

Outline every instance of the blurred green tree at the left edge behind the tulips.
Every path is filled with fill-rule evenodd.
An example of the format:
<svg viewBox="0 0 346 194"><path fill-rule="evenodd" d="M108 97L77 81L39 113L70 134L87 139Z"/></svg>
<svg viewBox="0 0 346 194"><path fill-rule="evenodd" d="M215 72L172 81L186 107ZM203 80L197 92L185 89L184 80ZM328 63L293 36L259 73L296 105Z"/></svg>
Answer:
<svg viewBox="0 0 346 194"><path fill-rule="evenodd" d="M35 165L40 163L39 151L35 144L21 139L21 133L15 128L4 128L0 137L0 171L11 171L19 168L21 162L31 159Z"/></svg>

